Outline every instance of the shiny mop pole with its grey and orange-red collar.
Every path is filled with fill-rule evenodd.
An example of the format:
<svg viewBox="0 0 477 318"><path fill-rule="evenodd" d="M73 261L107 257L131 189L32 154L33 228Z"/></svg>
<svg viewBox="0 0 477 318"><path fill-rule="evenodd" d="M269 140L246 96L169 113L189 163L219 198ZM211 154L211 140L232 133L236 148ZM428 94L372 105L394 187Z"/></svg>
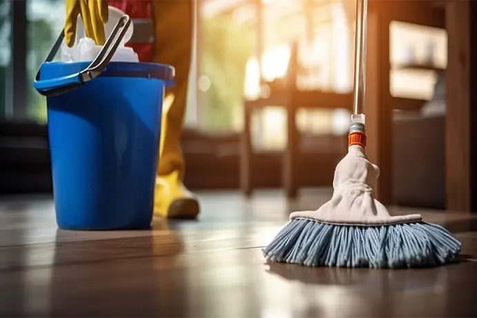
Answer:
<svg viewBox="0 0 477 318"><path fill-rule="evenodd" d="M364 92L366 86L366 43L367 43L368 0L356 1L356 36L354 53L353 115L349 127L348 146L366 147L364 126Z"/></svg>

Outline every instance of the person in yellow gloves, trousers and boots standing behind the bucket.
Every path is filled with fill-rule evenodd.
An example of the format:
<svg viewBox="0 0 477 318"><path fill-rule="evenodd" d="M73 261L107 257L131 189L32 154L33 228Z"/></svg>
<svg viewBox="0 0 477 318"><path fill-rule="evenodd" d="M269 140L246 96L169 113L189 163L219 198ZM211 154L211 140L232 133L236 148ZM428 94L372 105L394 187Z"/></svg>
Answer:
<svg viewBox="0 0 477 318"><path fill-rule="evenodd" d="M193 0L66 0L66 44L74 45L81 15L86 35L104 45L108 6L133 19L134 34L128 46L137 52L139 61L175 67L176 85L166 92L162 112L154 212L168 218L195 218L199 201L182 183L186 166L180 144L192 54Z"/></svg>

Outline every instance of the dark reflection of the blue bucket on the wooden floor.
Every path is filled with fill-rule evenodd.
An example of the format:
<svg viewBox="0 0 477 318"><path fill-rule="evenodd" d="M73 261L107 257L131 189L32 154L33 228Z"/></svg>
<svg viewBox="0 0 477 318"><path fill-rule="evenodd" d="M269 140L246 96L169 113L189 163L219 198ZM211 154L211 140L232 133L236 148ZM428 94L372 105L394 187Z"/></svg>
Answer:
<svg viewBox="0 0 477 318"><path fill-rule="evenodd" d="M49 282L50 317L144 317L173 304L175 316L188 317L188 295L171 292L168 275L182 241L166 222L156 222L154 230L155 235L135 239L57 244ZM68 231L58 230L57 241L65 235ZM175 288L186 290L186 276L186 270L173 275Z"/></svg>

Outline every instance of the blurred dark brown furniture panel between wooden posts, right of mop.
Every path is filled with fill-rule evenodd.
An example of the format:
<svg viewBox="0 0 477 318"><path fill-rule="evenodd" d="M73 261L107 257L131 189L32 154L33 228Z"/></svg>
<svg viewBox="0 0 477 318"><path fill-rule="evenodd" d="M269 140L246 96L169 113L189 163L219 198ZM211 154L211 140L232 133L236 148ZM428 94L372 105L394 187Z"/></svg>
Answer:
<svg viewBox="0 0 477 318"><path fill-rule="evenodd" d="M445 208L445 117L393 117L393 199L401 206Z"/></svg>

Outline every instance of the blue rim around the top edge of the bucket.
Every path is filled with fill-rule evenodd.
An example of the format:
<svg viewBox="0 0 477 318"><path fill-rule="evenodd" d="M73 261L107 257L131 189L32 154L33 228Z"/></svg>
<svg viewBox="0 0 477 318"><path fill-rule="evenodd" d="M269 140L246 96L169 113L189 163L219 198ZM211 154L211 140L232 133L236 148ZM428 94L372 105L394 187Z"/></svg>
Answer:
<svg viewBox="0 0 477 318"><path fill-rule="evenodd" d="M81 72L90 65L91 61L64 62L51 61L41 64L40 78L55 79L68 74ZM160 79L166 82L166 85L173 85L175 80L175 68L167 64L152 62L119 62L108 63L105 70L99 77L135 77L146 79Z"/></svg>

